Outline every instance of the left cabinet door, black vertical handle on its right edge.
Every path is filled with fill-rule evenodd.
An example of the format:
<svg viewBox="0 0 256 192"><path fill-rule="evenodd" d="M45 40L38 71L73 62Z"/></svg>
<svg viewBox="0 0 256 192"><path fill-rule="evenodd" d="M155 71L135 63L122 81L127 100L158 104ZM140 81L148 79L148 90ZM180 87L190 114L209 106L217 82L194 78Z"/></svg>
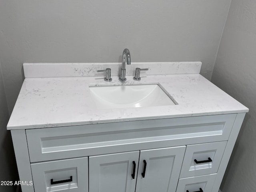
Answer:
<svg viewBox="0 0 256 192"><path fill-rule="evenodd" d="M90 156L89 191L134 192L139 154L134 151Z"/></svg>

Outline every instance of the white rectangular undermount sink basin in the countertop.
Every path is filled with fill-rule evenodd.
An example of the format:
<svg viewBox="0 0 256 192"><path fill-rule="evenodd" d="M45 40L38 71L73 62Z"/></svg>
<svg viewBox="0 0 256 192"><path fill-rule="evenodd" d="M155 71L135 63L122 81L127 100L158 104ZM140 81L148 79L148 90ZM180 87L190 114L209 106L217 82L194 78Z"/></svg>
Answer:
<svg viewBox="0 0 256 192"><path fill-rule="evenodd" d="M91 86L89 90L98 109L175 105L158 84Z"/></svg>

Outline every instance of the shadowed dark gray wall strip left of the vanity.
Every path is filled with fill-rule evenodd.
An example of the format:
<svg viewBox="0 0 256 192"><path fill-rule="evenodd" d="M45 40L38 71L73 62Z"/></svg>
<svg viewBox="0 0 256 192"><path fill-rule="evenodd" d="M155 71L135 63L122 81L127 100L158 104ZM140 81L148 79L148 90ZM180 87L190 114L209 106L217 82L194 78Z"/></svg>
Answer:
<svg viewBox="0 0 256 192"><path fill-rule="evenodd" d="M0 181L13 181L18 179L12 139L10 131L6 130L8 119L9 113L0 63ZM0 186L0 192L12 192L15 190L14 188L15 186Z"/></svg>

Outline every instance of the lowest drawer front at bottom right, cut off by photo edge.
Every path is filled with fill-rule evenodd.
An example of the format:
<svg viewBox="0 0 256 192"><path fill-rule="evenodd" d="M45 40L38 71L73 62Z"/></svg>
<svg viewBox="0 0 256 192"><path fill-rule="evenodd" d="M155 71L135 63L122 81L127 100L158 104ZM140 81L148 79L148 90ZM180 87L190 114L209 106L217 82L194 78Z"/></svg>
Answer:
<svg viewBox="0 0 256 192"><path fill-rule="evenodd" d="M212 192L217 174L179 179L176 192Z"/></svg>

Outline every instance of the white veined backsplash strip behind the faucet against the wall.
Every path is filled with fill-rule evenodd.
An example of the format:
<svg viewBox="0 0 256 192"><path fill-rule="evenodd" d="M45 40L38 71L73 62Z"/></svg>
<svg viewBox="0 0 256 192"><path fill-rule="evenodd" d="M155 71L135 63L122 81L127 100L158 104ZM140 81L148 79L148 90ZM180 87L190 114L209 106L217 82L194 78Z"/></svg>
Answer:
<svg viewBox="0 0 256 192"><path fill-rule="evenodd" d="M134 75L135 68L148 68L141 75L199 74L202 62L134 62L126 65L126 76ZM25 78L42 77L91 77L104 76L96 72L111 68L111 76L120 74L121 63L24 63Z"/></svg>

